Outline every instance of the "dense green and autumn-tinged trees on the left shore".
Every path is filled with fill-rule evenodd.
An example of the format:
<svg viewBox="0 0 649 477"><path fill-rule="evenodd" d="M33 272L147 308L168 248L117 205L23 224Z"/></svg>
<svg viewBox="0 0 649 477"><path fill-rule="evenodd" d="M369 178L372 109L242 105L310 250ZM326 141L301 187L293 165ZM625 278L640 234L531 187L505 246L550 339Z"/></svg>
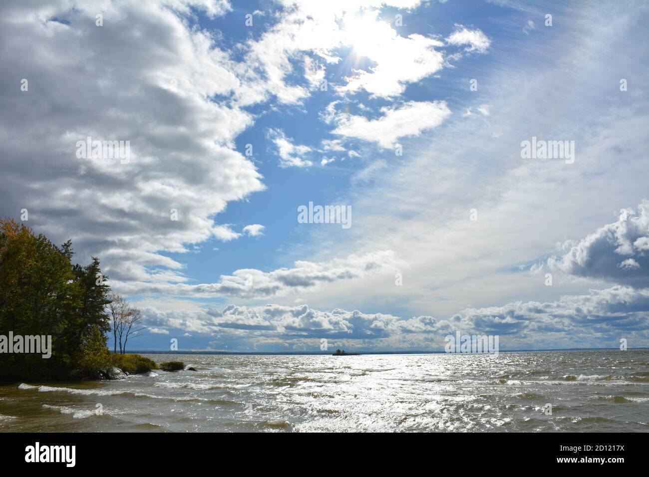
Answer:
<svg viewBox="0 0 649 477"><path fill-rule="evenodd" d="M71 243L56 247L45 236L0 219L0 335L51 336L52 356L9 353L0 380L65 379L110 364L104 349L110 329L109 288L98 280L99 260L73 265Z"/></svg>

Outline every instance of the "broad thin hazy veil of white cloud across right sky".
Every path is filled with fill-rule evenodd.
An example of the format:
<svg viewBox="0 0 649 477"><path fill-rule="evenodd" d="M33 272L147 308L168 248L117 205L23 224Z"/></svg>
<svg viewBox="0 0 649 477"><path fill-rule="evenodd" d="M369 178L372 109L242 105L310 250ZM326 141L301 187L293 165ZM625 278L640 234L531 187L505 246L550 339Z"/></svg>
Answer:
<svg viewBox="0 0 649 477"><path fill-rule="evenodd" d="M555 243L587 236L610 221L611 211L646 197L646 181L641 178L649 177L643 152L649 148L644 127L649 121L647 98L637 91L631 92L633 97L620 93L604 106L597 103L613 80L618 83L614 71L641 75L644 44L642 53L633 56L615 55L615 50L636 51L640 44L636 22L643 12L646 7L631 9L609 25L603 10L570 10L567 15L574 32L557 31L540 45L514 42L506 52L494 51L493 66L481 69L479 78L480 84L498 88L481 86L478 103L476 93L469 92L463 101L467 107L489 104L488 121L482 121L474 108L480 121L450 116L443 130L408 141L402 161L394 160L392 151L381 154L387 166L374 171L371 180L352 182L349 191L354 214L363 220L349 234L331 237L328 230L325 234L317 229L310 234L313 243L329 241L357 254L383 248L398 252L409 264L403 271L404 286L395 287L394 280L380 277L369 284L332 284L308 297L310 304L452 316L467 303L485 307L517 300L553 302L561 295L587 293L589 288L630 284L553 273L554 285L545 286L543 275L521 269L546 262ZM586 36L597 32L597 42L611 41L615 46L604 55L596 43L570 42L575 32ZM556 62L539 64L530 52ZM512 58L516 58L513 63ZM579 66L565 72L574 58L580 58ZM562 71L570 77L569 84L583 85L582 93L561 86L565 84ZM603 76L605 71L610 74ZM464 87L468 91L468 82ZM350 101L339 101L331 109L347 107L360 114ZM556 114L546 114L550 110ZM576 140L582 162L567 167L561 161L520 160L520 140L532 135L557 138L559 120L565 125L560 137ZM500 136L493 135L492 126ZM519 140L512 143L515 138ZM369 164L377 161L368 160ZM469 220L471 208L478 210L478 221ZM631 242L635 249L648 247L645 236ZM629 278L646 271L639 258L615 255L613 273ZM618 263L627 258L641 268L619 269Z"/></svg>

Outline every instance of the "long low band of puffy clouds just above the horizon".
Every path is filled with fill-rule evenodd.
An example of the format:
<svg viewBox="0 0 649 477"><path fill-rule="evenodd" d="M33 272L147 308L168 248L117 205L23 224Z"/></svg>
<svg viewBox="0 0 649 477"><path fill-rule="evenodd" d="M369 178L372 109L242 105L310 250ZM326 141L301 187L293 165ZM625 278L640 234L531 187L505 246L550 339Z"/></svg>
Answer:
<svg viewBox="0 0 649 477"><path fill-rule="evenodd" d="M495 334L509 349L528 345L543 347L560 343L578 347L592 339L620 336L631 343L646 343L649 319L649 289L615 286L593 290L589 295L562 297L556 302L514 302L489 308L467 308L448 318L421 315L402 319L385 313L358 310L321 311L306 304L284 306L236 306L218 310L179 312L144 310L147 324L160 330L192 331L218 336L215 344L227 342L247 347L273 339L294 341L313 348L320 339L345 340L355 349L441 349L448 334ZM637 341L633 341L637 339ZM311 341L309 341L311 340ZM276 343L276 342L274 342ZM228 346L232 349L232 346Z"/></svg>

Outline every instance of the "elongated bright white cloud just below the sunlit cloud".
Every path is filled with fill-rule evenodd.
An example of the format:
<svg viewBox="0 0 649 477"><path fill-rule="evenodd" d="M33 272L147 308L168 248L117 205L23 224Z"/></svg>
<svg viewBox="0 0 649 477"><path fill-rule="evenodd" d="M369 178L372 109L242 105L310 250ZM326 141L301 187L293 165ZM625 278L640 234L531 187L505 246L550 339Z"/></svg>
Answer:
<svg viewBox="0 0 649 477"><path fill-rule="evenodd" d="M394 108L381 108L383 116L367 119L346 112L335 114L332 121L333 134L376 141L380 147L392 147L398 138L419 136L422 131L435 128L448 116L450 110L445 101L408 101Z"/></svg>

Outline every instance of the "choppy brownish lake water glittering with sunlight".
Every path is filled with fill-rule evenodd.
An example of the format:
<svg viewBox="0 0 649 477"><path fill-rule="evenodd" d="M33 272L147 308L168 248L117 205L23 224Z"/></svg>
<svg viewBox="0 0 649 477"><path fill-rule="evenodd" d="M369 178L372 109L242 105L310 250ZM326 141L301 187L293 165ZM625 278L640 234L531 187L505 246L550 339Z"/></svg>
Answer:
<svg viewBox="0 0 649 477"><path fill-rule="evenodd" d="M649 432L649 350L148 356L198 371L0 385L0 431Z"/></svg>

